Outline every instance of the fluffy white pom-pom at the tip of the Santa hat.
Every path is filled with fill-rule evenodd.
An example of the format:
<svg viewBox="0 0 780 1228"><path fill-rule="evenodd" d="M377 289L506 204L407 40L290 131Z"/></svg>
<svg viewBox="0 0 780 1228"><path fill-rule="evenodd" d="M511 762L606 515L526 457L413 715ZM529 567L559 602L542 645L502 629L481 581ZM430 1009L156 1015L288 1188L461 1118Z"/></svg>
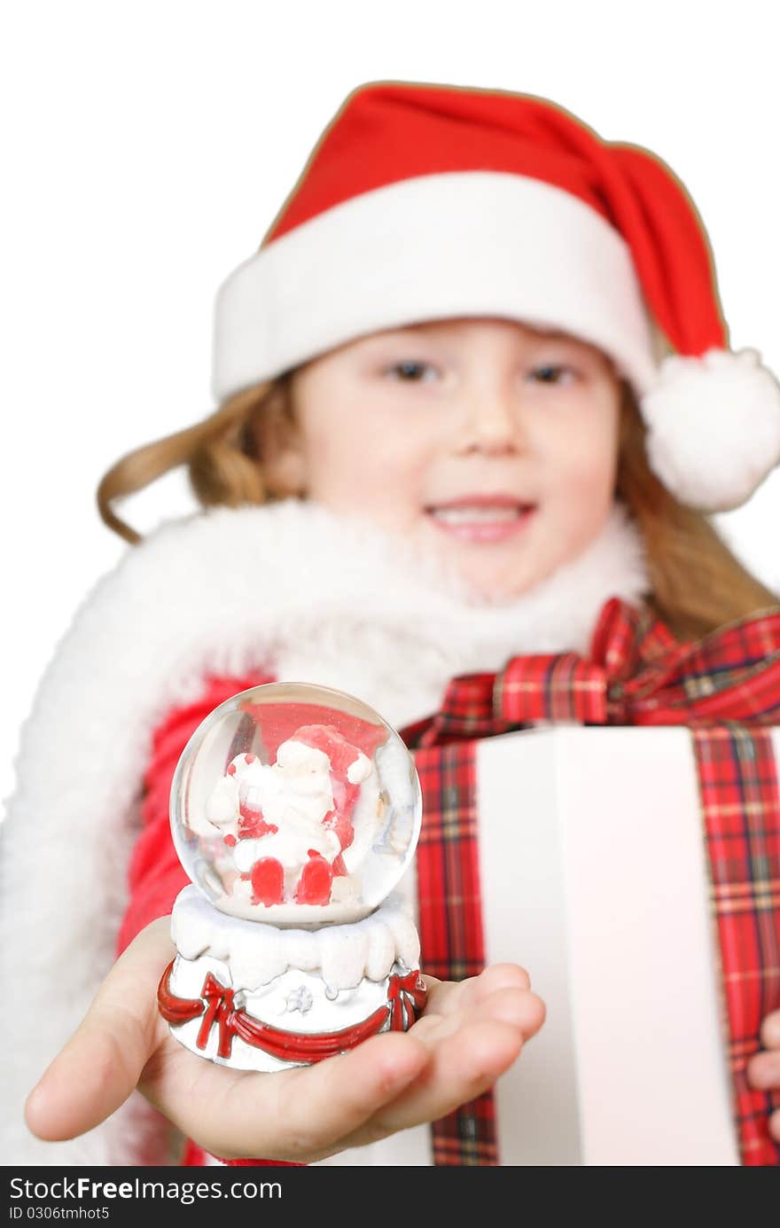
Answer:
<svg viewBox="0 0 780 1228"><path fill-rule="evenodd" d="M780 383L758 350L669 355L640 408L651 469L690 507L738 507L780 462Z"/></svg>

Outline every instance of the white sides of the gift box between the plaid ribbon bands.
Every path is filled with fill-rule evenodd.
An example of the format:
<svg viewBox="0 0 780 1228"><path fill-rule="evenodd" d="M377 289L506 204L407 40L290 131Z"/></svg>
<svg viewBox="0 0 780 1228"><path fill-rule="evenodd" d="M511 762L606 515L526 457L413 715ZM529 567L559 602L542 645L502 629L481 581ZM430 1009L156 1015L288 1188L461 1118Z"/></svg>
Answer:
<svg viewBox="0 0 780 1228"><path fill-rule="evenodd" d="M548 1012L496 1084L500 1163L738 1164L690 732L536 727L477 769L486 960ZM419 1126L326 1163L431 1162Z"/></svg>

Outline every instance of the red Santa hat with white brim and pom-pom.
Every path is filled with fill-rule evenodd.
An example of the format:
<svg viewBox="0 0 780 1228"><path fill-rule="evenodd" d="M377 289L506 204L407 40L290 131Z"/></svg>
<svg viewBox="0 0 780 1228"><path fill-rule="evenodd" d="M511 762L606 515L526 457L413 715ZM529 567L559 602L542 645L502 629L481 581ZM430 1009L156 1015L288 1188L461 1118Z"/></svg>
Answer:
<svg viewBox="0 0 780 1228"><path fill-rule="evenodd" d="M560 329L608 354L638 397L652 469L690 506L739 505L780 460L780 386L757 350L727 349L681 182L544 98L493 90L349 95L259 252L219 290L214 393L457 316Z"/></svg>

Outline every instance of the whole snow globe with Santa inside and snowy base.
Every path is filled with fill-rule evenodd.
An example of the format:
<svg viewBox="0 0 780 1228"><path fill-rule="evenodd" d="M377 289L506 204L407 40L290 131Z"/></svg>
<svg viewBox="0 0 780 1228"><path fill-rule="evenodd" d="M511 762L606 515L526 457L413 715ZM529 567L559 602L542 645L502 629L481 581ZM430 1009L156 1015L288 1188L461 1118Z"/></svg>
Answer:
<svg viewBox="0 0 780 1228"><path fill-rule="evenodd" d="M192 882L157 992L176 1039L276 1071L409 1028L426 990L397 888L420 819L409 752L351 695L269 683L216 707L171 790Z"/></svg>

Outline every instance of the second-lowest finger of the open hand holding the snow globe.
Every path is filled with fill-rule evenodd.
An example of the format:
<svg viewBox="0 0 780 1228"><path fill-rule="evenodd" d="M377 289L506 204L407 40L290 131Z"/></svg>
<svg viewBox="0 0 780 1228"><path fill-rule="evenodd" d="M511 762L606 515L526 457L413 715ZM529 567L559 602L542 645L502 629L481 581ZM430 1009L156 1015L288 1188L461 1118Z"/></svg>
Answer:
<svg viewBox="0 0 780 1228"><path fill-rule="evenodd" d="M431 1066L396 1100L341 1140L364 1146L398 1130L435 1121L473 1100L506 1071L523 1045L518 1028L495 1019L469 1023L431 1051Z"/></svg>

